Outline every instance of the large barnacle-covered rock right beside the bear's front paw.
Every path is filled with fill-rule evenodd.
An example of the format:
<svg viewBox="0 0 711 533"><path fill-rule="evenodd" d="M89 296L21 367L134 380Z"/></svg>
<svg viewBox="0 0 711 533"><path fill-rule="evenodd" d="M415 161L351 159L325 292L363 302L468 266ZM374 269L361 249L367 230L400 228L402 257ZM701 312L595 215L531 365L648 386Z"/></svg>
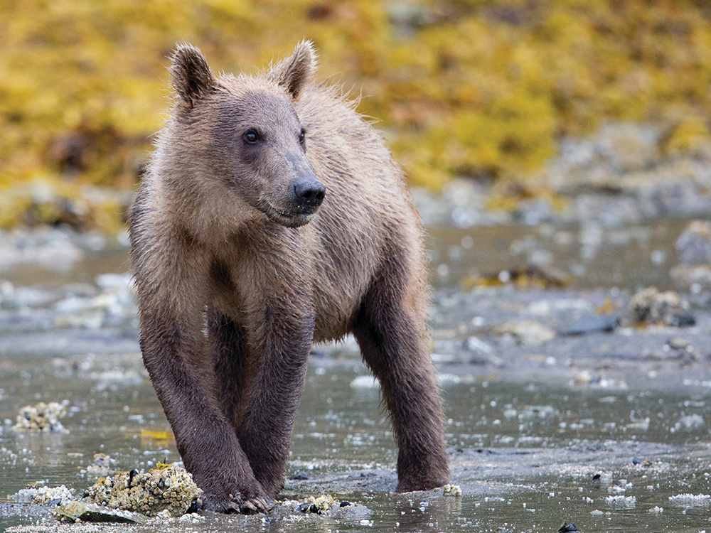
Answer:
<svg viewBox="0 0 711 533"><path fill-rule="evenodd" d="M168 510L173 517L183 515L200 502L203 491L185 469L158 463L149 472L120 472L99 478L87 489L87 500L97 505L140 512L153 517Z"/></svg>

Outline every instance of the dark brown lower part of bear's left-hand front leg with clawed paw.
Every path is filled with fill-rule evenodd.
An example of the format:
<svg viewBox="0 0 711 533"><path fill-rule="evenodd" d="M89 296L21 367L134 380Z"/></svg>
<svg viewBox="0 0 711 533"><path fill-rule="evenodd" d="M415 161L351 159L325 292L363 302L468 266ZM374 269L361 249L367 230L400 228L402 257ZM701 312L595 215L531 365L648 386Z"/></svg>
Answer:
<svg viewBox="0 0 711 533"><path fill-rule="evenodd" d="M204 337L186 317L141 306L144 364L176 437L178 452L205 507L220 512L267 512L267 492L255 479L235 429L212 393L201 358Z"/></svg>

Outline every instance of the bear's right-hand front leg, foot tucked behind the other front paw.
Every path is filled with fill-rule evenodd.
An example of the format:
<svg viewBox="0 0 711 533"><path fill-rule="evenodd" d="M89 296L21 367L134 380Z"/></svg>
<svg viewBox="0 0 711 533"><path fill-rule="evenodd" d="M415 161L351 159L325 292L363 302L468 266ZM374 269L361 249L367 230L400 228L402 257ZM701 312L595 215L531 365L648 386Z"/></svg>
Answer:
<svg viewBox="0 0 711 533"><path fill-rule="evenodd" d="M255 355L260 367L237 430L255 478L270 497L284 486L284 465L314 337L310 303L293 289L285 292L252 307L248 343L250 357Z"/></svg>

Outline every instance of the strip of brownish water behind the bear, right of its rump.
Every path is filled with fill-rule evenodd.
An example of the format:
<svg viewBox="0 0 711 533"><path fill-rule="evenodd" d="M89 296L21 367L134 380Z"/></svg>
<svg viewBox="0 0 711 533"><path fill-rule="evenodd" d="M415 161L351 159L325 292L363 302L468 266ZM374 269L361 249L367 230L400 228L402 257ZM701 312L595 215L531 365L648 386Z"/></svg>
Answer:
<svg viewBox="0 0 711 533"><path fill-rule="evenodd" d="M575 289L673 285L674 243L688 221L661 220L609 229L599 225L491 226L428 230L434 286L459 286L468 276L496 276L527 264L554 267Z"/></svg>

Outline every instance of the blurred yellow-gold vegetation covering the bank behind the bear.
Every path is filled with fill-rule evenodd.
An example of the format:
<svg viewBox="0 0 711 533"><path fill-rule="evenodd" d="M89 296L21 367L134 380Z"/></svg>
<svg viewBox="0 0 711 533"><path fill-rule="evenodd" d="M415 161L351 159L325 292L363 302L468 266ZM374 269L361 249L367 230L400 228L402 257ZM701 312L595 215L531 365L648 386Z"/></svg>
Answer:
<svg viewBox="0 0 711 533"><path fill-rule="evenodd" d="M3 0L0 35L0 227L121 224L176 41L257 72L313 39L429 188L533 176L608 119L655 124L667 156L710 139L707 0Z"/></svg>

